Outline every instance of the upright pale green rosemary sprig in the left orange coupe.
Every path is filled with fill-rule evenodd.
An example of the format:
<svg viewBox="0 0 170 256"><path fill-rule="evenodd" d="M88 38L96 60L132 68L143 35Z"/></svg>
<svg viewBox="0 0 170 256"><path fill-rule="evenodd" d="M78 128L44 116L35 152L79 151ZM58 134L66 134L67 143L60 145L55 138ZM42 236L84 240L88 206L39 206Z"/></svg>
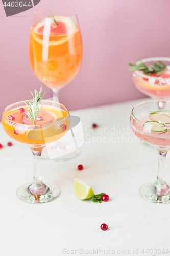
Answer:
<svg viewBox="0 0 170 256"><path fill-rule="evenodd" d="M26 101L23 101L27 106L28 109L30 110L30 113L27 111L27 115L28 117L31 119L31 121L35 124L35 119L38 116L39 112L42 109L42 106L45 102L45 100L43 101L43 103L41 104L41 106L39 106L39 102L42 99L42 97L45 95L46 92L43 91L42 95L41 95L41 91L42 91L42 86L40 87L39 92L37 90L34 90L34 94L30 91L30 93L33 96L33 100L29 100L29 104L26 103Z"/></svg>

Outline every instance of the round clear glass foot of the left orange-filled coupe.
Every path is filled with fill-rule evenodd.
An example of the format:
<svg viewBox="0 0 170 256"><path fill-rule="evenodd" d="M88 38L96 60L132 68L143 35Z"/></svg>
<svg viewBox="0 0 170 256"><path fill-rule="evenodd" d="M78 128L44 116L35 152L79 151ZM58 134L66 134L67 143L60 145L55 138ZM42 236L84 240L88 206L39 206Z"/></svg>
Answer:
<svg viewBox="0 0 170 256"><path fill-rule="evenodd" d="M46 191L42 195L31 194L28 191L30 184L22 185L17 190L17 196L20 200L26 203L47 203L55 200L60 195L59 188L51 183L46 184Z"/></svg>

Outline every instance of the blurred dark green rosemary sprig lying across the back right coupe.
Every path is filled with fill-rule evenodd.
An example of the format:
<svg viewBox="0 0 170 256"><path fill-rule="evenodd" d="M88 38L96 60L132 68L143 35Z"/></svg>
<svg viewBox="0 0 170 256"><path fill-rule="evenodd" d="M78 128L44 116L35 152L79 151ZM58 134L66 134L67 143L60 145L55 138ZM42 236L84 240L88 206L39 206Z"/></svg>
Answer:
<svg viewBox="0 0 170 256"><path fill-rule="evenodd" d="M151 74L159 75L166 69L166 65L161 61L158 61L157 63L153 63L148 66L145 65L142 61L139 64L133 64L133 63L128 63L128 64L129 66L131 66L129 69L130 71L140 70L140 71L143 71L143 73L146 75L151 75Z"/></svg>

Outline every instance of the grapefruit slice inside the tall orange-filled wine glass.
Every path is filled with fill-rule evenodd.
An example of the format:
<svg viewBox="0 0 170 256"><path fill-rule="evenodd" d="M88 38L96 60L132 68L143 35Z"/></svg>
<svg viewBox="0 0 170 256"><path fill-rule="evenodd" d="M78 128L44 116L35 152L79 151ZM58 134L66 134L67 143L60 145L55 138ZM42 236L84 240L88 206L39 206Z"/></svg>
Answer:
<svg viewBox="0 0 170 256"><path fill-rule="evenodd" d="M72 37L74 35L76 31L76 25L74 24L74 22L72 22L70 18L64 16L55 16L54 18L58 25L56 25L53 19L51 18L51 25L49 27L49 45L63 44L65 41L68 40L70 36ZM46 19L42 20L37 25L35 25L35 27L32 30L33 38L40 44L42 44L45 20Z"/></svg>

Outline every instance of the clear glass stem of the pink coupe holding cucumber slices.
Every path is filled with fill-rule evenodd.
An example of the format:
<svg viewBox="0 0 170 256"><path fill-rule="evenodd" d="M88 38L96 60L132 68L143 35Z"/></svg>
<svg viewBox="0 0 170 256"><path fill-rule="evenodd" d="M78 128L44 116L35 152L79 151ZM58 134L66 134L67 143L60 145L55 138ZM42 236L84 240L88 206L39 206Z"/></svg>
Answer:
<svg viewBox="0 0 170 256"><path fill-rule="evenodd" d="M165 182L165 158L167 151L158 152L158 176L155 181L156 195L164 196L169 193L169 186Z"/></svg>

